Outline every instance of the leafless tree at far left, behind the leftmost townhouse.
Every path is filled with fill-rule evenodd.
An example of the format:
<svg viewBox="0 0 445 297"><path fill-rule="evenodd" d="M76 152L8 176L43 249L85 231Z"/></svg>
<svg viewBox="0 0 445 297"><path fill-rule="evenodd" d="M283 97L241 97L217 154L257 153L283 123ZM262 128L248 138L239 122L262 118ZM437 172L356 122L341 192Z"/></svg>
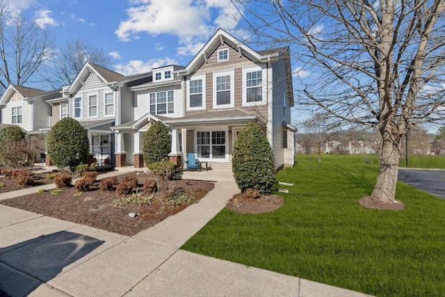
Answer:
<svg viewBox="0 0 445 297"><path fill-rule="evenodd" d="M0 88L23 86L51 58L54 40L46 29L27 22L8 2L0 0ZM36 82L36 81L33 81Z"/></svg>

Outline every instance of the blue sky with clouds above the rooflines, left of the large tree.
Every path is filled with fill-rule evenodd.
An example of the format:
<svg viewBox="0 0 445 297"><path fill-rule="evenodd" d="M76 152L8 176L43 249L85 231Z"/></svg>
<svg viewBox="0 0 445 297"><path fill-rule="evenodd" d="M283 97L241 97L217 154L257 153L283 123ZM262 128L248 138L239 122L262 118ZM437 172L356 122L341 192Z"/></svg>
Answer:
<svg viewBox="0 0 445 297"><path fill-rule="evenodd" d="M113 57L122 74L187 65L220 27L234 29L229 0L10 0L62 47L81 38Z"/></svg>

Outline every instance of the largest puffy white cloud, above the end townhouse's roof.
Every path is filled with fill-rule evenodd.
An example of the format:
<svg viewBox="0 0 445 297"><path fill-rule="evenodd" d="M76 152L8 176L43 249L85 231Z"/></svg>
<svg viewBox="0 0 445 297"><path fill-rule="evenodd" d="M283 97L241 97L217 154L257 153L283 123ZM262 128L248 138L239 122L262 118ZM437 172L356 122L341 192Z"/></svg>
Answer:
<svg viewBox="0 0 445 297"><path fill-rule="evenodd" d="M129 41L139 33L179 38L179 55L196 54L217 28L234 29L240 15L230 0L131 0L115 34ZM199 44L199 46L197 46Z"/></svg>

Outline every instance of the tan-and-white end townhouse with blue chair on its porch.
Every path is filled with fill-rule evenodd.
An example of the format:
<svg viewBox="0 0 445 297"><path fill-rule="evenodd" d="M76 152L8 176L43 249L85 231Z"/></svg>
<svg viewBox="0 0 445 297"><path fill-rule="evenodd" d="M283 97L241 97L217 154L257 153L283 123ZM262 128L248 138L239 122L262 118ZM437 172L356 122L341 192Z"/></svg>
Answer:
<svg viewBox="0 0 445 297"><path fill-rule="evenodd" d="M180 165L190 152L213 168L229 165L238 132L256 122L273 147L276 168L293 166L288 47L257 52L220 29L186 67L152 73L153 81L130 88L133 121L111 128L124 139L120 150L133 154L127 163L143 166L143 137L161 120L172 135L170 159Z"/></svg>

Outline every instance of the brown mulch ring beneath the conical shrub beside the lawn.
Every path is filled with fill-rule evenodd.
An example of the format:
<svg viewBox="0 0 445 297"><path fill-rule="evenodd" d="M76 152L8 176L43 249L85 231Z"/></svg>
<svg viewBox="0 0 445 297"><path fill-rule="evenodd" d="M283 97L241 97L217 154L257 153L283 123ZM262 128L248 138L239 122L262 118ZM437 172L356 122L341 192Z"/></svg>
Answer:
<svg viewBox="0 0 445 297"><path fill-rule="evenodd" d="M261 198L245 198L238 193L227 202L226 207L239 214L264 214L279 209L283 205L283 198L278 195L261 195Z"/></svg>

